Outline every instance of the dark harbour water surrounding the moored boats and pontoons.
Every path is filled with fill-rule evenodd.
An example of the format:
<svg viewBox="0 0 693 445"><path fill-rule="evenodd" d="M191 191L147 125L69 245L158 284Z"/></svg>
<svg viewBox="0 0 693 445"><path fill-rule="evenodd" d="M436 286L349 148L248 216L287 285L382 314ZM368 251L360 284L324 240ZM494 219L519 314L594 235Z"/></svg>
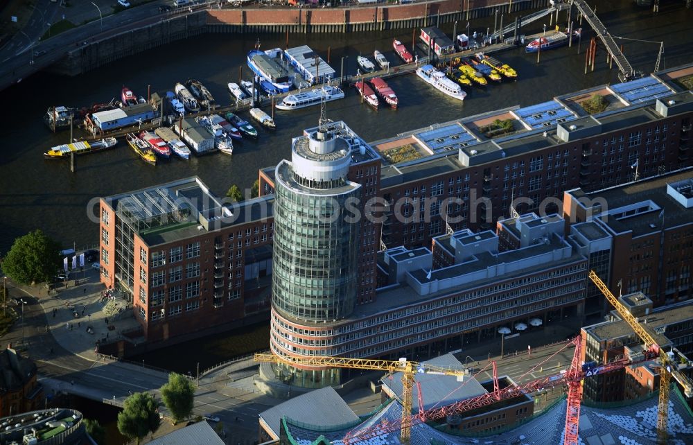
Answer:
<svg viewBox="0 0 693 445"><path fill-rule="evenodd" d="M649 8L638 8L631 0L599 2L597 13L613 35L641 40L665 41L665 64L692 62L690 48L693 33L690 23L693 11L683 2L663 2L658 15ZM500 18L500 17L499 17ZM505 16L505 24L510 19ZM545 19L547 22L548 20ZM565 13L561 13L565 23ZM524 30L536 33L542 21ZM458 24L458 33L466 23ZM471 23L471 30L493 29L493 17ZM453 25L444 26L448 35ZM586 37L591 37L591 31ZM410 44L412 30L387 33L348 33L346 35L290 35L289 46L308 44L327 58L331 49L331 65L340 71L342 55L349 55L346 70L356 73L356 56L372 55L374 49L394 59L392 39L398 37ZM152 167L137 159L121 141L119 148L77 159L76 173L70 173L68 162L47 161L42 153L58 143L67 142L68 132L51 134L41 121L50 105L89 105L118 97L123 85L136 94L146 96L147 85L152 91L173 89L175 82L188 77L198 78L207 85L219 103L229 102L226 84L237 81L238 67L245 67L245 55L256 39L262 49L285 45L284 35L210 34L177 42L146 53L120 60L76 78L39 73L3 92L3 121L0 132L0 252L6 251L14 238L29 229L40 227L64 245L85 245L96 242L97 226L87 219L87 202L99 195L112 195L151 186L180 177L198 175L213 192L223 195L231 184L249 187L256 179L258 168L272 166L289 157L290 139L303 128L317 123L319 109L312 107L295 112L277 112L278 130L262 131L257 142L243 141L236 145L233 157L212 155L193 158L189 162L172 159ZM625 53L636 69L653 69L658 44L628 42ZM391 85L400 98L401 107L392 111L381 107L375 112L360 104L353 90L343 101L328 103L327 117L344 119L367 141L382 139L398 132L441 121L469 116L510 105L532 105L553 96L607 82L617 82L617 70L608 70L604 52L597 56L597 69L584 74L584 51L562 48L545 51L541 63L536 55L523 49L500 53L498 57L514 67L520 80L516 83L492 85L487 91L471 91L464 103L448 99L426 87L415 76L401 76Z"/></svg>

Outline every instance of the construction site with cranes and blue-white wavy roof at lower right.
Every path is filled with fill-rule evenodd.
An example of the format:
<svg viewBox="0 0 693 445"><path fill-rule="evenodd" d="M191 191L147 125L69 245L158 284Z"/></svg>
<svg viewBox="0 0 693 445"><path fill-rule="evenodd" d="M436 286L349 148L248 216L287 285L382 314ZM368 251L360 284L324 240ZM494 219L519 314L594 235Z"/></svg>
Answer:
<svg viewBox="0 0 693 445"><path fill-rule="evenodd" d="M293 445L692 443L693 384L686 375L690 362L672 347L664 335L666 326L647 326L649 319L639 318L651 313L647 297L638 293L617 298L595 272L589 278L615 308L612 321L602 324L625 323L632 331L629 335L640 339L635 347L624 344L624 354L604 362L587 361L585 348L593 326L556 344L553 354L527 361L523 374L514 378L500 374L495 360L467 367L455 353L426 363L256 354L255 360L263 363L387 372L380 379L383 403L376 410L356 415L333 387L324 387L262 412L261 439ZM673 311L690 319L693 304ZM660 312L665 311L656 311ZM568 366L550 366L570 349ZM530 355L528 351L527 358ZM659 381L647 394L617 403L583 401L586 379L642 367Z"/></svg>

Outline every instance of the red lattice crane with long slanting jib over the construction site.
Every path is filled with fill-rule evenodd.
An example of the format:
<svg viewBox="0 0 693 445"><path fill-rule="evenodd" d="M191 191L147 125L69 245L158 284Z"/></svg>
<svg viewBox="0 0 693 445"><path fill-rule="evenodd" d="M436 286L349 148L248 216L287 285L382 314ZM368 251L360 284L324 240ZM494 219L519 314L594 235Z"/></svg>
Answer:
<svg viewBox="0 0 693 445"><path fill-rule="evenodd" d="M613 372L626 366L652 360L653 358L657 357L657 354L654 351L646 351L645 354L639 357L637 360L631 360L631 358L622 358L604 365L599 365L595 362L581 365L581 337L578 335L576 338L571 340L568 345L569 344L575 345L575 351L570 369L568 369L567 372L560 372L559 374L554 374L552 376L537 378L536 380L529 381L523 385L508 386L501 389L498 387L497 373L495 372L495 362L493 362L495 377L493 392L472 397L471 399L458 401L451 405L432 408L427 411L420 411L419 414L416 415L410 415L408 417L403 417L387 423L376 424L359 431L352 430L347 433L346 436L344 436L343 442L344 444L353 444L355 442L365 441L367 439L371 439L372 437L393 433L401 428L410 429L412 426L423 424L427 421L444 419L448 415L459 414L460 412L491 405L492 403L500 400L512 399L522 394L532 394L538 390L544 390L550 387L568 385L568 412L565 416L565 439L563 443L565 445L577 445L580 399L582 395L581 381L585 377L597 376L606 372ZM537 366L538 365L535 367ZM484 369L486 368L484 367ZM481 369L480 372L483 372L484 369ZM534 367L530 369L529 372L532 372L533 370ZM475 376L479 375L480 372L477 372ZM419 396L420 394L421 390L419 388ZM419 409L421 409L421 403L421 399L419 399Z"/></svg>

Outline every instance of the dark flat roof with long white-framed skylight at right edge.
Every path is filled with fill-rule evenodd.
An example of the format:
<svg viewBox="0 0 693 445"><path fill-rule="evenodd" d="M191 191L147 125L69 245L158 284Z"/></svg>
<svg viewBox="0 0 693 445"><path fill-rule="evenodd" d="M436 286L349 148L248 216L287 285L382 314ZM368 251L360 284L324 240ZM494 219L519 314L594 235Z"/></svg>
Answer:
<svg viewBox="0 0 693 445"><path fill-rule="evenodd" d="M693 168L631 182L592 193L573 193L590 200L606 200L598 218L614 233L633 232L633 238L660 232L662 225L693 224L693 208L686 208L667 193L667 184L693 180Z"/></svg>

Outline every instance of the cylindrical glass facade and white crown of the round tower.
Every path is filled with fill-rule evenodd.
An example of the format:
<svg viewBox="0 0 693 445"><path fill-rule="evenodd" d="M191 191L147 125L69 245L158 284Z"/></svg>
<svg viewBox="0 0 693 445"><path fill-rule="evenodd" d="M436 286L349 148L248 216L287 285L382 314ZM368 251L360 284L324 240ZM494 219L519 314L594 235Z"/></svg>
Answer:
<svg viewBox="0 0 693 445"><path fill-rule="evenodd" d="M345 211L358 205L362 187L347 180L347 141L318 130L295 138L291 162L275 171L272 311L301 326L324 328L348 317L356 305L360 221ZM272 337L279 329L272 323ZM324 356L315 344L308 355ZM299 356L292 346L271 341L279 356ZM340 383L340 369L274 367L281 381L299 387Z"/></svg>

